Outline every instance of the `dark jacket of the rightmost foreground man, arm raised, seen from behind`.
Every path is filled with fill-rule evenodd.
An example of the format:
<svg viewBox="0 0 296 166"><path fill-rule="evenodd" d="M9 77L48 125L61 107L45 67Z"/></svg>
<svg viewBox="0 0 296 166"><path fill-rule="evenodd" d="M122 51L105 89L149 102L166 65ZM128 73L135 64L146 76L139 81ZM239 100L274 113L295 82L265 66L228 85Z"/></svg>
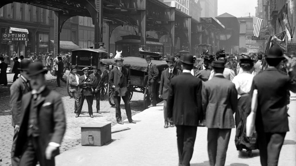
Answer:
<svg viewBox="0 0 296 166"><path fill-rule="evenodd" d="M264 132L289 131L287 91L296 92L295 71L289 72L289 76L281 74L276 68L267 68L253 78L249 103L251 103L254 89L258 89L256 123L263 122ZM248 110L250 112L250 109Z"/></svg>

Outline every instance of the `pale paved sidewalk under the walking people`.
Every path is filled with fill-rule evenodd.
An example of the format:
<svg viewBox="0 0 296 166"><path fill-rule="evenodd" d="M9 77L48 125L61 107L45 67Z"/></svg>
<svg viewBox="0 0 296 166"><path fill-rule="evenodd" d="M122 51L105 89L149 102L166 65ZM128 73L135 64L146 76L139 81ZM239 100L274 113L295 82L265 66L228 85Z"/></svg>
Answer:
<svg viewBox="0 0 296 166"><path fill-rule="evenodd" d="M279 165L296 165L296 102L290 104L290 131L287 133L282 147ZM291 111L292 110L292 111ZM136 124L124 121L112 130L131 128L112 134L113 142L102 147L77 146L68 150L56 159L57 166L125 166L125 165L178 165L176 127L163 128L163 103L157 107L144 110L133 116ZM231 131L231 139L226 157L226 166L259 166L259 151L253 151L253 157L247 157L245 150L238 152L234 144L235 129ZM207 128L198 127L197 138L191 165L209 166L207 154Z"/></svg>

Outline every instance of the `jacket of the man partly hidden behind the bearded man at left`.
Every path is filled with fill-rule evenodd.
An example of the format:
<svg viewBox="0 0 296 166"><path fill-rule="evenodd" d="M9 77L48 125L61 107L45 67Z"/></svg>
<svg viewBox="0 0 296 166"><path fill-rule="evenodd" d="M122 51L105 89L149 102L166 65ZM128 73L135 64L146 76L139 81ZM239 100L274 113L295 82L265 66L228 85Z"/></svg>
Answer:
<svg viewBox="0 0 296 166"><path fill-rule="evenodd" d="M28 83L29 84L29 83ZM18 78L10 87L10 110L12 114L12 126L20 125L22 96L31 91L22 77Z"/></svg>

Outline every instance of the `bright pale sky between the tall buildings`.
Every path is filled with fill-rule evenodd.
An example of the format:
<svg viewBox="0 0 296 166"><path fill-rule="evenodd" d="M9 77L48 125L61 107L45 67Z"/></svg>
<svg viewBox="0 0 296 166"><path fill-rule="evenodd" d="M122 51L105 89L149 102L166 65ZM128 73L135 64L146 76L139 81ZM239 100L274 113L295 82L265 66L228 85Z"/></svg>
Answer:
<svg viewBox="0 0 296 166"><path fill-rule="evenodd" d="M218 16L229 13L235 17L255 16L257 0L218 0Z"/></svg>

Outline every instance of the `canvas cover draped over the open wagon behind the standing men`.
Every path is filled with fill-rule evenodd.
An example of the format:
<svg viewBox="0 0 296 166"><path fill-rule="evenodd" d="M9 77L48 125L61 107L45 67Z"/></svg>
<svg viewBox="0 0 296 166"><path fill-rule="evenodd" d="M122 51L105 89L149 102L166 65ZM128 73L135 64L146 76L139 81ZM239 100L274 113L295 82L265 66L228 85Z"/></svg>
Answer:
<svg viewBox="0 0 296 166"><path fill-rule="evenodd" d="M100 62L104 65L116 65L115 59L102 59ZM157 61L157 60L151 60L153 64L156 64L157 69L162 71L165 68L168 67L167 63L165 61ZM127 67L133 70L139 70L139 71L145 71L147 72L148 64L146 62L146 59L139 58L139 57L125 57L123 58L123 67Z"/></svg>

